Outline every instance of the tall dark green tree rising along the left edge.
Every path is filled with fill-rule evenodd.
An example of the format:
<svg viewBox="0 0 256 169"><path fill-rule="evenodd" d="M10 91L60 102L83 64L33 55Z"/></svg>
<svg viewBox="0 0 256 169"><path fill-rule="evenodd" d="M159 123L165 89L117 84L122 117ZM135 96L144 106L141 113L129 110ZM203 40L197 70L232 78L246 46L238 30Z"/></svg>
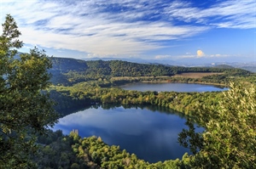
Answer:
<svg viewBox="0 0 256 169"><path fill-rule="evenodd" d="M51 61L38 48L18 56L20 34L8 14L0 37L0 168L31 166L28 157L37 151L35 134L44 134L58 118L44 90L50 84Z"/></svg>

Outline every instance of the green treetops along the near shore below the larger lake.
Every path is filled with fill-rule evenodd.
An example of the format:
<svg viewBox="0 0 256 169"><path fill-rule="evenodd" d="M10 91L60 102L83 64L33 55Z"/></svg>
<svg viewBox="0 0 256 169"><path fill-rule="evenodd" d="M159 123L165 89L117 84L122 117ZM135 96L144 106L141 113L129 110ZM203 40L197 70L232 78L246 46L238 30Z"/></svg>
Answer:
<svg viewBox="0 0 256 169"><path fill-rule="evenodd" d="M51 132L45 144L45 137L38 140L44 144L40 153L33 160L38 167L44 168L181 168L188 165L189 155L183 155L183 161L170 160L149 164L128 153L116 145L108 145L102 138L92 136L80 138L78 131L72 131L68 136L61 131Z"/></svg>

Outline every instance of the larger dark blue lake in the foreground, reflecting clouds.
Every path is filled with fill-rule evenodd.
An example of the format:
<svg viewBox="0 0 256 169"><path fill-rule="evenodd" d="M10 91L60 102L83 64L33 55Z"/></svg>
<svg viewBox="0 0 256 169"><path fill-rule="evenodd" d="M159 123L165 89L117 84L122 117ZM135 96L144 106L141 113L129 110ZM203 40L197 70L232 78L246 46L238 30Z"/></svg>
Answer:
<svg viewBox="0 0 256 169"><path fill-rule="evenodd" d="M61 118L54 130L69 134L78 129L82 138L100 136L108 145L119 145L140 159L157 162L181 159L189 152L177 143L177 134L187 128L185 121L183 114L158 106L95 106Z"/></svg>

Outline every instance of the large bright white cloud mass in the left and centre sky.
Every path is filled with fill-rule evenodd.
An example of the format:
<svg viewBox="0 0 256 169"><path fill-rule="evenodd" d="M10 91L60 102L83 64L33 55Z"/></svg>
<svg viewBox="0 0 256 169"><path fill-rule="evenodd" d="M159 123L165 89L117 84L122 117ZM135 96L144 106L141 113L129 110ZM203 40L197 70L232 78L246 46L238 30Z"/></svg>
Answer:
<svg viewBox="0 0 256 169"><path fill-rule="evenodd" d="M148 50L163 48L158 41L190 37L207 30L207 27L175 26L165 21L126 22L123 19L124 14L128 12L101 12L106 2L96 2L4 3L5 10L2 13L14 11L13 16L22 32L21 38L26 43L102 55L141 54ZM103 5L98 6L98 3ZM129 1L125 1L122 5L128 3ZM129 17L144 17L145 14L148 14L148 9L135 14L130 13Z"/></svg>

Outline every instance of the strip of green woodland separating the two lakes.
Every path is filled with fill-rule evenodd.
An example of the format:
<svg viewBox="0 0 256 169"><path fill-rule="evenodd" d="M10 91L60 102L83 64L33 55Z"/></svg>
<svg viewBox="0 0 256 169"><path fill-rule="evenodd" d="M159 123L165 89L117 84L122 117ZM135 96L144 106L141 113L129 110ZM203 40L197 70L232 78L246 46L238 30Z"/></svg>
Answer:
<svg viewBox="0 0 256 169"><path fill-rule="evenodd" d="M218 104L221 99L219 92L177 93L177 92L139 92L127 91L116 87L100 87L102 82L80 82L73 87L52 86L51 97L59 104L57 110L67 110L72 107L82 107L90 104L122 104L139 105L152 104L189 115L195 111L197 102Z"/></svg>

